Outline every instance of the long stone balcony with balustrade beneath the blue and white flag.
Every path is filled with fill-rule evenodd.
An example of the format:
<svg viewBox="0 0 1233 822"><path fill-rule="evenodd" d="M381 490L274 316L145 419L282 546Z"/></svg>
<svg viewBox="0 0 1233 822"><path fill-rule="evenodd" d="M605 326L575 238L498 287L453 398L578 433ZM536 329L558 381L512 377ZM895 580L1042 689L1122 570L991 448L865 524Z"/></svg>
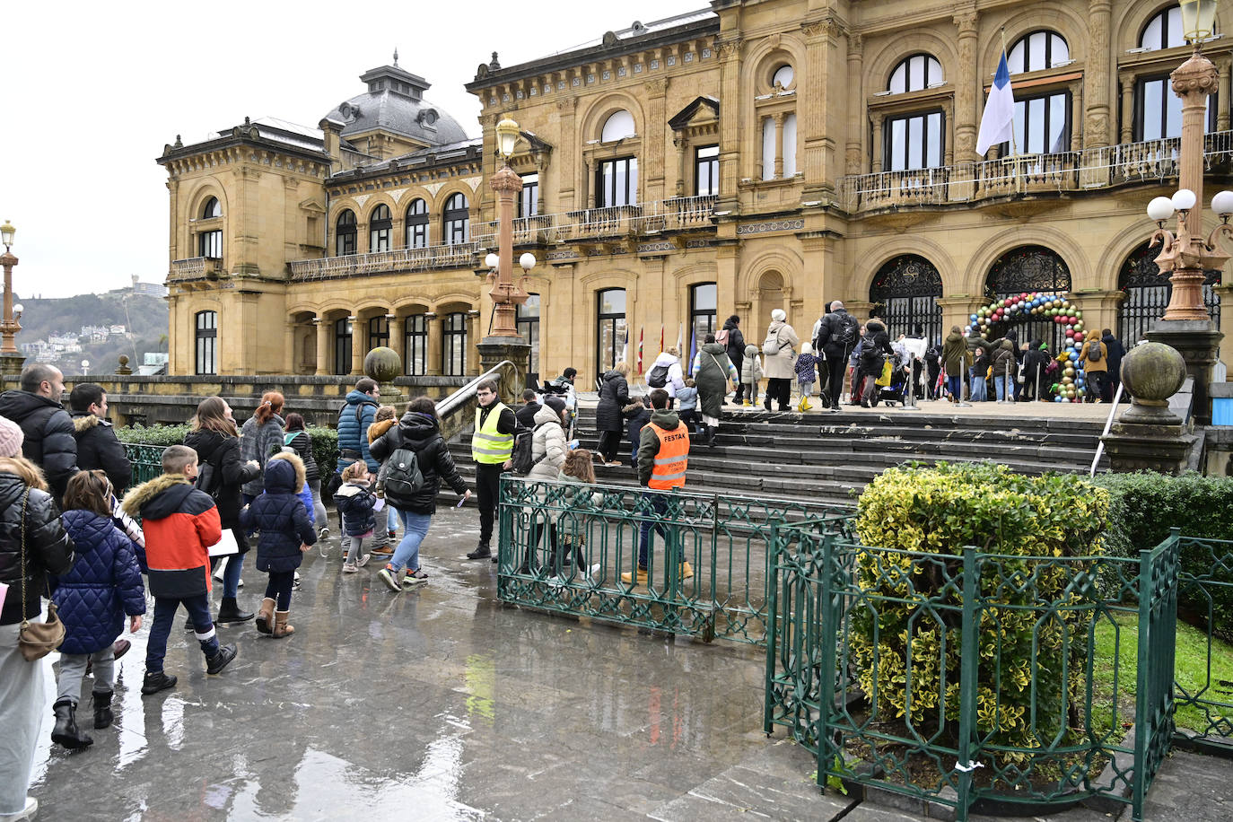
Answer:
<svg viewBox="0 0 1233 822"><path fill-rule="evenodd" d="M843 177L838 205L852 214L912 206L996 201L1016 195L1049 195L1164 182L1178 177L1180 140L1158 139L1058 154L1025 154L981 163ZM1233 165L1233 131L1207 134L1203 166Z"/></svg>

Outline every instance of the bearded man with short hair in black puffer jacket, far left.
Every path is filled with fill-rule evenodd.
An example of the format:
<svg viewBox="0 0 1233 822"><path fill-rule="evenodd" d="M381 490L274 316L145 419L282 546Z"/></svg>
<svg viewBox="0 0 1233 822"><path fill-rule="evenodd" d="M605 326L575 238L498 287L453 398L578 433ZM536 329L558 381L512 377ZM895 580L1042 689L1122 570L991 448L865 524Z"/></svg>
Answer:
<svg viewBox="0 0 1233 822"><path fill-rule="evenodd" d="M78 472L73 418L60 404L64 375L36 362L22 368L20 385L20 391L0 394L0 417L21 426L26 436L21 454L43 470L58 505L69 477Z"/></svg>

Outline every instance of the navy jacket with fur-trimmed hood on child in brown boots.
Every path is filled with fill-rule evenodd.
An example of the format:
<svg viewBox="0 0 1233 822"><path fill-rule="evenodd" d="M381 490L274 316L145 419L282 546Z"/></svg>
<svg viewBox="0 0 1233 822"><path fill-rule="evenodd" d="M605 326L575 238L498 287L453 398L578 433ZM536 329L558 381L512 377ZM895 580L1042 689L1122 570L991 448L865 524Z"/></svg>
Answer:
<svg viewBox="0 0 1233 822"><path fill-rule="evenodd" d="M300 567L301 545L317 541L308 511L298 492L305 487L305 465L293 454L280 455L265 465L265 493L239 513L239 524L258 529L256 569L286 573Z"/></svg>

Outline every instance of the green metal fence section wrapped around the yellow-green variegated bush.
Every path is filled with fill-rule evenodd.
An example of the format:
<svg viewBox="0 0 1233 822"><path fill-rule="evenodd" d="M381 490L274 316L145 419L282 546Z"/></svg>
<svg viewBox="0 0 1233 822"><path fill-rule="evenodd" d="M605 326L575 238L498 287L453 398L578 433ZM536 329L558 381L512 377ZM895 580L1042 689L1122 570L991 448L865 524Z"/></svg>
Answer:
<svg viewBox="0 0 1233 822"><path fill-rule="evenodd" d="M1142 818L1174 731L1176 535L1138 560L912 553L814 524L771 547L764 730L816 754L824 790L875 785L959 820L1104 795Z"/></svg>

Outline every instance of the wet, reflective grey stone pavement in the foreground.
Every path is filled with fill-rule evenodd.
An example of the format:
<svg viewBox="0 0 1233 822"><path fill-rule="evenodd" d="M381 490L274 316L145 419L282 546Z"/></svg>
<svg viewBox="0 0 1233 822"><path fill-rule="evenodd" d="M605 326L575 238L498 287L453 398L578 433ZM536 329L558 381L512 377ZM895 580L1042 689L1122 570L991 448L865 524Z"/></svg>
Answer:
<svg viewBox="0 0 1233 822"><path fill-rule="evenodd" d="M476 523L439 511L430 583L402 594L375 563L342 577L335 536L301 569L293 637L222 627L239 658L207 678L178 624L180 683L144 699L143 629L118 665L117 723L81 753L51 749L49 683L39 818L916 818L819 795L808 752L762 735L760 649L502 608L496 566L461 560ZM244 577L255 609L264 574ZM1178 754L1157 784L1174 790L1153 790L1149 820L1233 817L1227 762Z"/></svg>

